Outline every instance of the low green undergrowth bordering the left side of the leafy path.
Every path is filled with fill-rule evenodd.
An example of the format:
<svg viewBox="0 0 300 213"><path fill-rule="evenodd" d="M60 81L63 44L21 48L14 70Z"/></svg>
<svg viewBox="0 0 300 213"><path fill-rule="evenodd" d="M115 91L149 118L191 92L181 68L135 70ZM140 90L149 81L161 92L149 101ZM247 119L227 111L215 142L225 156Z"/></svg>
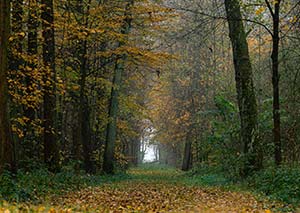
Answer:
<svg viewBox="0 0 300 213"><path fill-rule="evenodd" d="M51 195L60 195L68 191L128 178L125 173L105 176L75 174L63 170L53 174L44 168L30 172L20 170L17 175L6 171L0 176L0 200L40 203Z"/></svg>

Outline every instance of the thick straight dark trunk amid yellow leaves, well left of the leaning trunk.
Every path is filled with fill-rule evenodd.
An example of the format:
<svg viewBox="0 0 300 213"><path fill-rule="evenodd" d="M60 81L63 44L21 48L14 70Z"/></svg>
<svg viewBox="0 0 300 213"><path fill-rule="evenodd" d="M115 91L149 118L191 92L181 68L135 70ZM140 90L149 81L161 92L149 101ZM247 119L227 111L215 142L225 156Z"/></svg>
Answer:
<svg viewBox="0 0 300 213"><path fill-rule="evenodd" d="M56 138L56 71L54 11L52 0L42 0L43 60L46 71L44 93L44 161L48 169L59 169L59 154Z"/></svg>

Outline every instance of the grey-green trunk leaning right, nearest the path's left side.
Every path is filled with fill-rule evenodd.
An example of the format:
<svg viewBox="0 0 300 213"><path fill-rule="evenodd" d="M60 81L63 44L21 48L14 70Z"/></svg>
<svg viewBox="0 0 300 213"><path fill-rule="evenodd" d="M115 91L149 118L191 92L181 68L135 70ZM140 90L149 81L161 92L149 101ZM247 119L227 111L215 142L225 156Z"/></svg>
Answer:
<svg viewBox="0 0 300 213"><path fill-rule="evenodd" d="M133 5L133 0L129 0L127 3L126 13L129 13L130 7ZM121 29L122 34L129 34L131 29L131 17L130 14L125 14L124 25ZM120 42L119 46L123 46L124 42ZM111 89L111 97L109 104L109 122L106 130L106 141L104 150L103 160L103 171L107 174L114 173L114 152L115 142L117 135L117 117L118 117L118 96L122 83L122 73L124 71L124 61L126 55L123 54L116 59L114 76L113 76L113 87Z"/></svg>

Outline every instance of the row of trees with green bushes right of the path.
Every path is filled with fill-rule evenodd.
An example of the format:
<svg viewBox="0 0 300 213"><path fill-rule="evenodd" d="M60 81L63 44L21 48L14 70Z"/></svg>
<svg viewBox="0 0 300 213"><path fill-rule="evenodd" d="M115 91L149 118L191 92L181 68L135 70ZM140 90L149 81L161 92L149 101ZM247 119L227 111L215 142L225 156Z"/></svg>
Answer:
<svg viewBox="0 0 300 213"><path fill-rule="evenodd" d="M183 170L218 162L242 176L272 162L298 162L298 102L288 97L299 93L299 48L290 49L299 44L299 2L170 4L186 28L167 38L175 44L167 49L182 57L168 65L156 85L160 95L152 98L160 96L153 118L165 156L183 159ZM170 100L174 104L163 104Z"/></svg>

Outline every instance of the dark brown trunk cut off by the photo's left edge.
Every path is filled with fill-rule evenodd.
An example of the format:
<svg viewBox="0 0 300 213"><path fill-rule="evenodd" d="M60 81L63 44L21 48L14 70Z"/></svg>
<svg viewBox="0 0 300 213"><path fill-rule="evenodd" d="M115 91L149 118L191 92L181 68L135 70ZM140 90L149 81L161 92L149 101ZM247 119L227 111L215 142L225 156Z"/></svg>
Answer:
<svg viewBox="0 0 300 213"><path fill-rule="evenodd" d="M8 110L8 38L10 34L10 1L0 1L0 173L13 172L16 164Z"/></svg>

